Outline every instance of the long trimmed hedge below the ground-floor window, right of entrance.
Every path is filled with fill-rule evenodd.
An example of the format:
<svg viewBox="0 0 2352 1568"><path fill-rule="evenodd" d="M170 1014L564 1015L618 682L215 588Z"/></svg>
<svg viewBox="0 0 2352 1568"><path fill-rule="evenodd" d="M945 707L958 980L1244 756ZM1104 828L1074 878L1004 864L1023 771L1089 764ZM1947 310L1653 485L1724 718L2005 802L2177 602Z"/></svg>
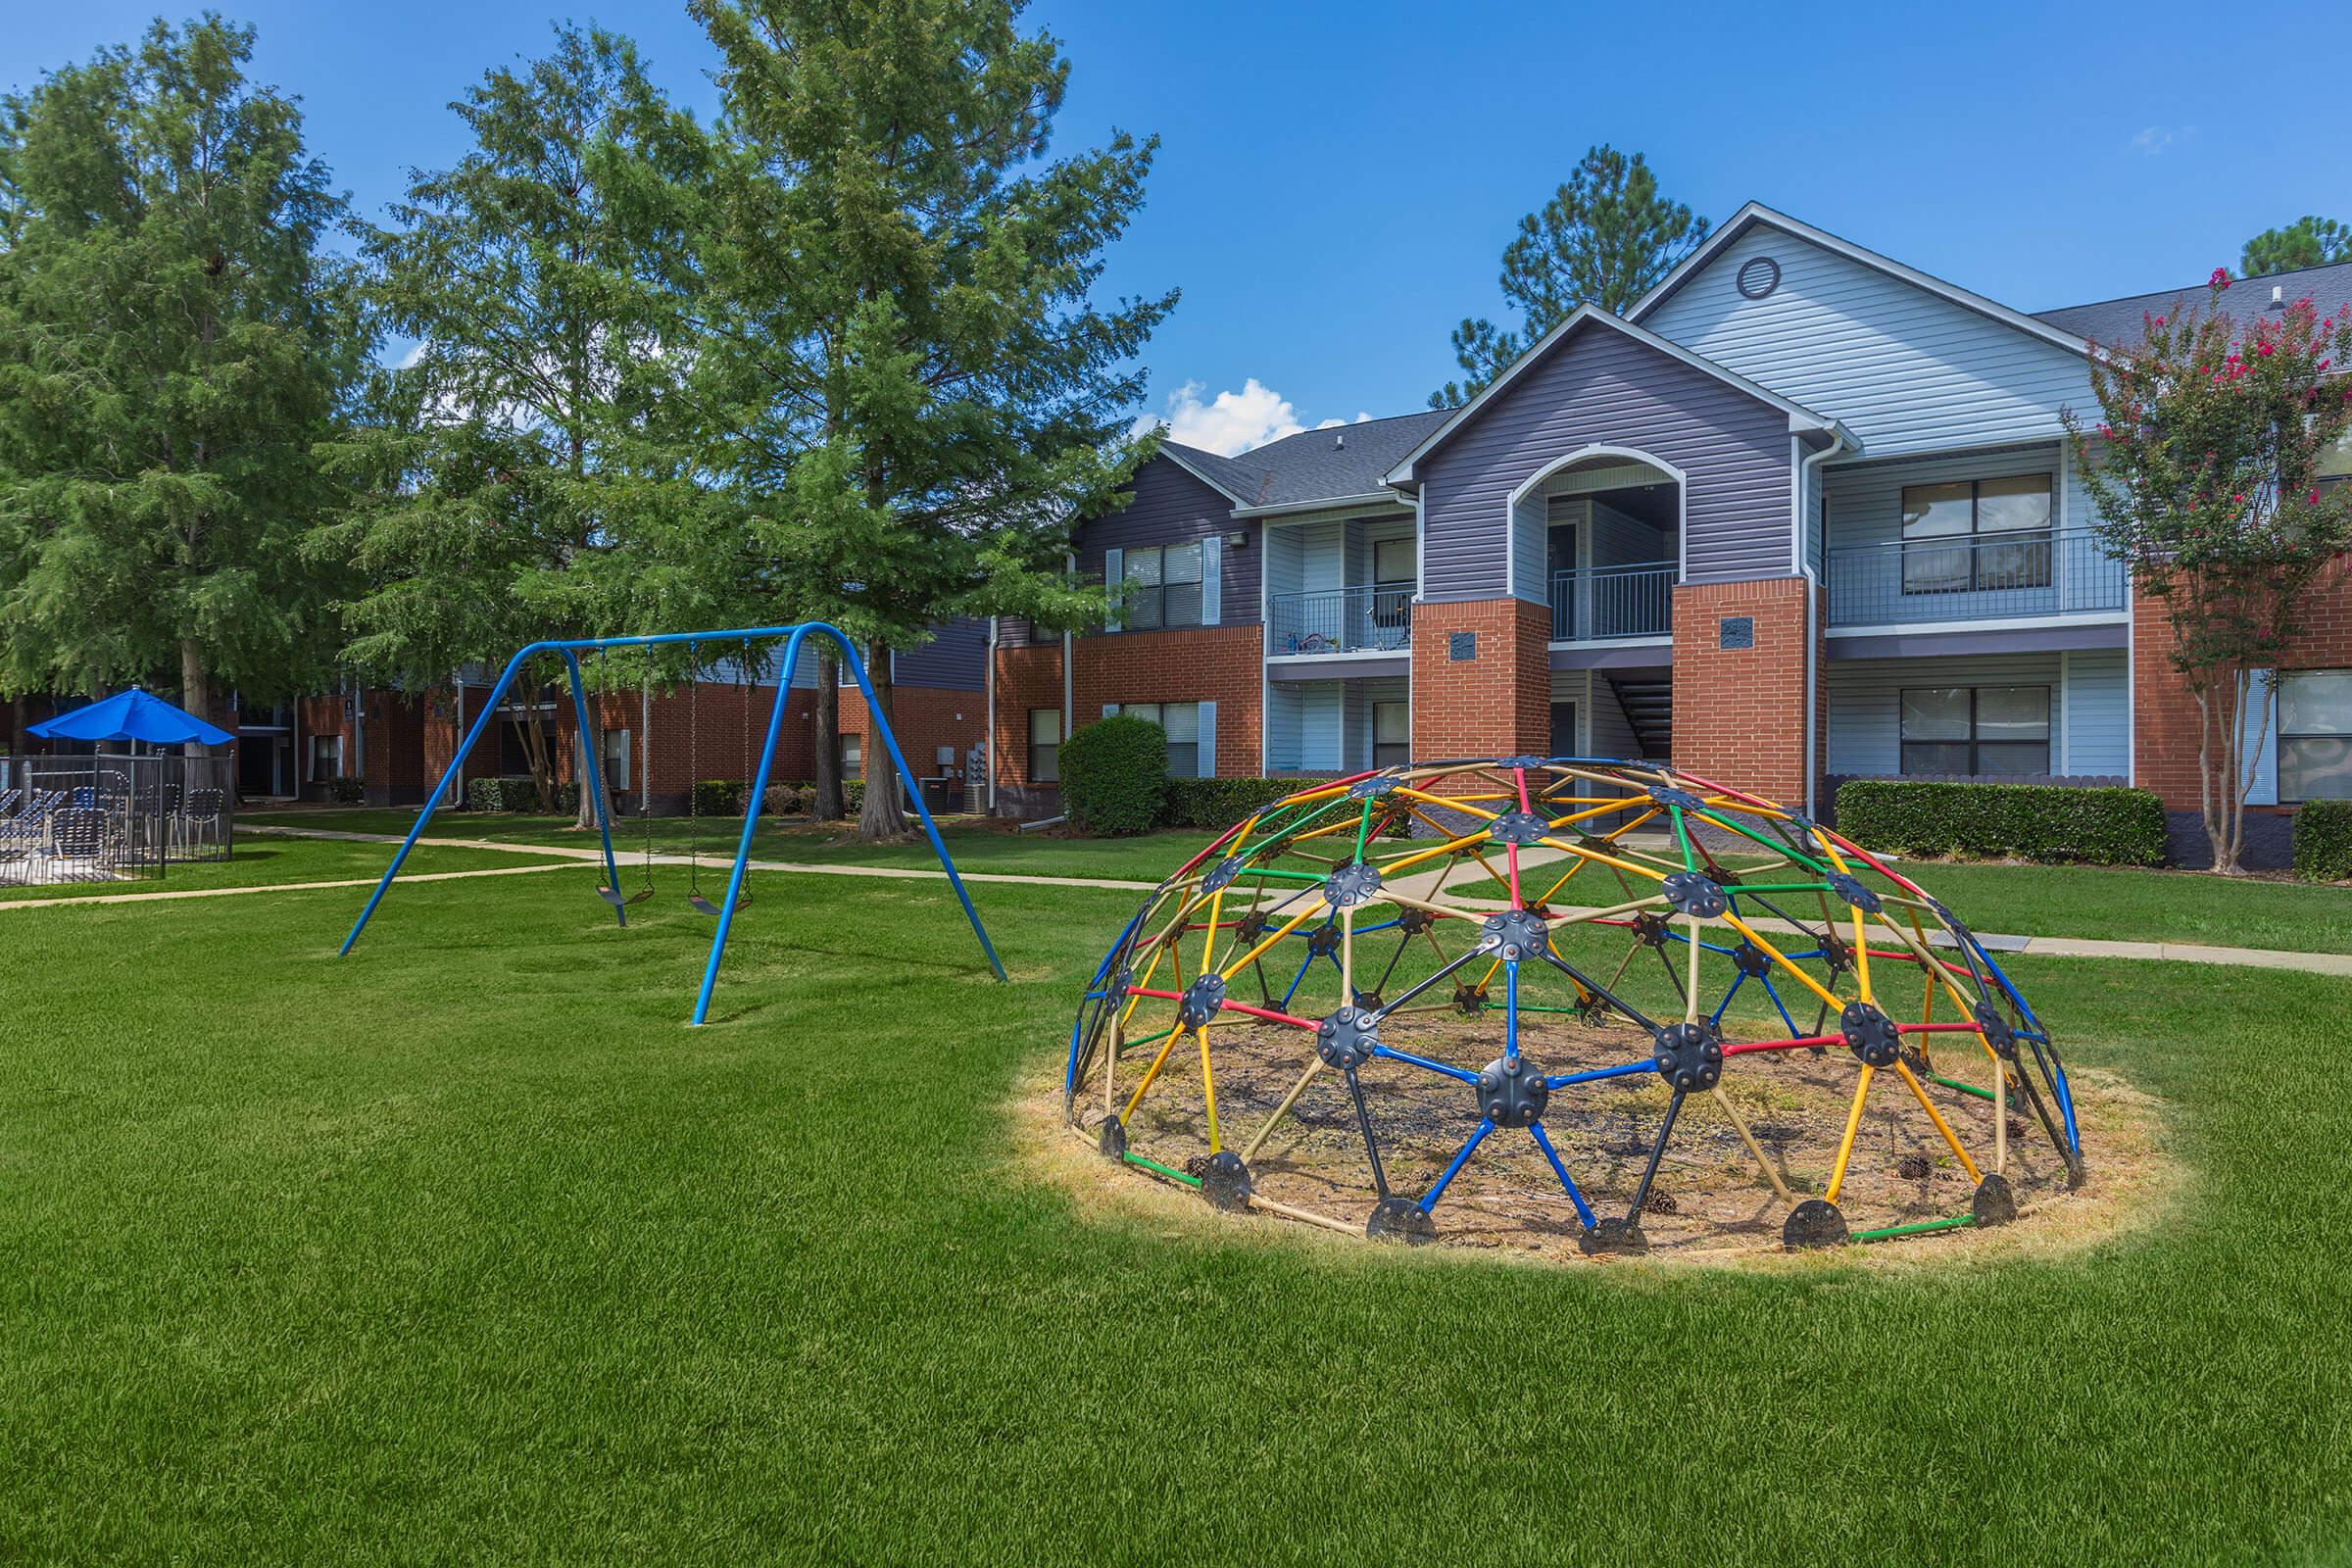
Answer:
<svg viewBox="0 0 2352 1568"><path fill-rule="evenodd" d="M1837 830L1865 849L2084 865L2164 865L2164 802L2152 790L1905 783L1837 790Z"/></svg>

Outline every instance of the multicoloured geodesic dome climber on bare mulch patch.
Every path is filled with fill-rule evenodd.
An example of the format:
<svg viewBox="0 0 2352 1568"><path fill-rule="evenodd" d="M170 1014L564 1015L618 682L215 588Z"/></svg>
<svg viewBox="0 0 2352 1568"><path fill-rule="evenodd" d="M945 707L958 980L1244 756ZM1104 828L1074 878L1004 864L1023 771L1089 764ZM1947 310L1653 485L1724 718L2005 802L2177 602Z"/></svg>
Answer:
<svg viewBox="0 0 2352 1568"><path fill-rule="evenodd" d="M2002 1225L2084 1175L2051 1034L1952 910L1769 799L1581 757L1223 832L1103 957L1063 1110L1218 1208L1536 1251Z"/></svg>

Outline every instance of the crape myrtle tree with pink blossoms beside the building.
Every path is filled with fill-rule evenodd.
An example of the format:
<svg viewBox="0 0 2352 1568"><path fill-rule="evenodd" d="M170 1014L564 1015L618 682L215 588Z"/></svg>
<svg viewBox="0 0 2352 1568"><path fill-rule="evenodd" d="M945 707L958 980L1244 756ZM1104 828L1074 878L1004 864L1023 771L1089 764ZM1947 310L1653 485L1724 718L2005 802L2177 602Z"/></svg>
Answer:
<svg viewBox="0 0 2352 1568"><path fill-rule="evenodd" d="M2319 482L2352 428L2352 308L2298 299L2239 329L2220 308L2227 287L2216 270L2204 306L2176 303L2145 317L2138 343L2093 353L2098 423L2063 418L2100 538L2171 621L2166 656L2197 703L2204 832L2213 870L2234 875L2251 762L2270 743L2270 672L2352 541L2352 491Z"/></svg>

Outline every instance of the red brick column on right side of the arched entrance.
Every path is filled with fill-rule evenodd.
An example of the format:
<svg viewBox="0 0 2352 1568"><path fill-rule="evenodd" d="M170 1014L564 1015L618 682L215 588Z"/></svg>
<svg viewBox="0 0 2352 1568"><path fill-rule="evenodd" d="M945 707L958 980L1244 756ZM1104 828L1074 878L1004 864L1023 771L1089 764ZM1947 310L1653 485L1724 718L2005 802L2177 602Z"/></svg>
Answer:
<svg viewBox="0 0 2352 1568"><path fill-rule="evenodd" d="M1675 766L1804 806L1806 764L1820 766L1804 724L1809 592L1795 576L1675 588ZM1818 705L1816 689L1816 719Z"/></svg>

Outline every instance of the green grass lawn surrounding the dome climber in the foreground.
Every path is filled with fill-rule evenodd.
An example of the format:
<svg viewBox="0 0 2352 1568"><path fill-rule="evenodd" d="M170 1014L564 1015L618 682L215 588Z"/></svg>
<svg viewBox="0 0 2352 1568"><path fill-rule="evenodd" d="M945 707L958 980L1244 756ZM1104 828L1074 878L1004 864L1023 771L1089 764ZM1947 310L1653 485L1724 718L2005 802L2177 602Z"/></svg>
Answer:
<svg viewBox="0 0 2352 1568"><path fill-rule="evenodd" d="M301 853L308 853L303 849ZM2018 959L2178 1110L2063 1262L1526 1269L1033 1178L1134 896L5 912L0 1559L2345 1561L2352 983ZM94 1027L103 1016L106 1027ZM2098 1128L2086 1128L2098 1161Z"/></svg>

